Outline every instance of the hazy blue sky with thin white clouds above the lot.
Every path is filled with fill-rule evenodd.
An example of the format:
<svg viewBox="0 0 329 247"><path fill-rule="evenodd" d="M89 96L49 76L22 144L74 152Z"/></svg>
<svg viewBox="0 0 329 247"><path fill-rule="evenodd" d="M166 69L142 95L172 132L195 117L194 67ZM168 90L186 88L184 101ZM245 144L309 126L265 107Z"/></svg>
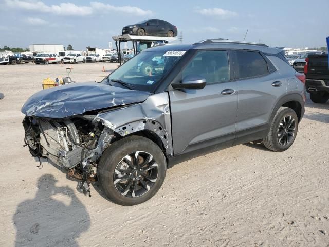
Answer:
<svg viewBox="0 0 329 247"><path fill-rule="evenodd" d="M157 18L183 33L183 43L228 38L293 48L325 45L329 0L77 1L0 0L0 47L71 44L107 48L125 25Z"/></svg>

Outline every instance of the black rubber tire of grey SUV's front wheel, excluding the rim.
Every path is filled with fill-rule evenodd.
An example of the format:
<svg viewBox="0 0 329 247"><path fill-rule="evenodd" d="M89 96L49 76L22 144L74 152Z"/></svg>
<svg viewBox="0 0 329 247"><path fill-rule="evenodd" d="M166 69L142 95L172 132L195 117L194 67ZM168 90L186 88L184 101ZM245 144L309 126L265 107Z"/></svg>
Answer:
<svg viewBox="0 0 329 247"><path fill-rule="evenodd" d="M114 185L113 175L116 166L122 158L135 151L144 151L153 155L158 164L158 178L147 193L139 197L130 198L121 195L121 193L117 191ZM165 181L166 169L166 157L154 142L145 137L130 136L113 143L105 150L100 159L97 174L106 196L111 201L120 205L130 206L145 202L156 194L162 186L163 181Z"/></svg>

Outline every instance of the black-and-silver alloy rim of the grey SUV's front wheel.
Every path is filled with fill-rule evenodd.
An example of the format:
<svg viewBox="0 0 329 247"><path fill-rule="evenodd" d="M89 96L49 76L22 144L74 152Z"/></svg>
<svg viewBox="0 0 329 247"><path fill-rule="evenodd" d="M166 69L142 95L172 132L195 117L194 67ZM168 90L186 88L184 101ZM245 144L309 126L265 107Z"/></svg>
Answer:
<svg viewBox="0 0 329 247"><path fill-rule="evenodd" d="M136 151L122 158L113 175L114 185L121 195L139 197L156 183L158 164L150 153Z"/></svg>

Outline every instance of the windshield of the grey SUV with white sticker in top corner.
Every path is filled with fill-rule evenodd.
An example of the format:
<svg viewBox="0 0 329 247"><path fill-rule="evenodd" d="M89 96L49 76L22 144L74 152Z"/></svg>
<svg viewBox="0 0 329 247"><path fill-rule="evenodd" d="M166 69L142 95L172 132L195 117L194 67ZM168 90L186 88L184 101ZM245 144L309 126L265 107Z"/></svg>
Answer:
<svg viewBox="0 0 329 247"><path fill-rule="evenodd" d="M129 84L133 89L151 92L184 54L185 51L141 52L101 83L122 86L123 82Z"/></svg>

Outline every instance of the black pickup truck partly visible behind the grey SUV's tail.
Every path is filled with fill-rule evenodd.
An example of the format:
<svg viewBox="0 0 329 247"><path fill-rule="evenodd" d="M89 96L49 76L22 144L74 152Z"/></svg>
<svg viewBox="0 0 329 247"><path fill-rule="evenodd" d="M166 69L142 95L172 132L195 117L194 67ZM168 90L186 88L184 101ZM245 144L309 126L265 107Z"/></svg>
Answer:
<svg viewBox="0 0 329 247"><path fill-rule="evenodd" d="M315 103L324 104L329 99L328 54L312 54L306 58L304 67L306 90Z"/></svg>

